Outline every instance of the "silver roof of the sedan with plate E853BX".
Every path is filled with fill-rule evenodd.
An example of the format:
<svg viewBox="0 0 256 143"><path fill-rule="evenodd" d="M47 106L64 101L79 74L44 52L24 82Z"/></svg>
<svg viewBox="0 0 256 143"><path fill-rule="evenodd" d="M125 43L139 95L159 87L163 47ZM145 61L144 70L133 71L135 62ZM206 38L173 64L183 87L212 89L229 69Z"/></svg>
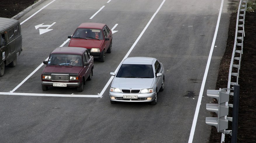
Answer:
<svg viewBox="0 0 256 143"><path fill-rule="evenodd" d="M152 57L128 57L123 61L123 64L147 64L151 65L156 58Z"/></svg>

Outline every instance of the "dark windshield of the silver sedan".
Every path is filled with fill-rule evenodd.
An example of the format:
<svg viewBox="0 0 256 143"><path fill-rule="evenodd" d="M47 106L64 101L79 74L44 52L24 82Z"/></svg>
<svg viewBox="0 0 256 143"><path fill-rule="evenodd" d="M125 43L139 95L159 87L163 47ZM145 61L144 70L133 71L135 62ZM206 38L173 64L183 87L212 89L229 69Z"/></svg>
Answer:
<svg viewBox="0 0 256 143"><path fill-rule="evenodd" d="M152 65L122 64L116 77L154 78Z"/></svg>

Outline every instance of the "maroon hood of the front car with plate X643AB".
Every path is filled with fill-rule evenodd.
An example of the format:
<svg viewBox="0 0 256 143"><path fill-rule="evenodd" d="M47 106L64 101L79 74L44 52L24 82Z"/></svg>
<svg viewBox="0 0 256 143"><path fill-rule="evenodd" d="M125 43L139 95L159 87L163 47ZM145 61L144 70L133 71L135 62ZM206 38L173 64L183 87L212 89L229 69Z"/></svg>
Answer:
<svg viewBox="0 0 256 143"><path fill-rule="evenodd" d="M77 73L79 74L82 67L77 66L46 66L43 73Z"/></svg>

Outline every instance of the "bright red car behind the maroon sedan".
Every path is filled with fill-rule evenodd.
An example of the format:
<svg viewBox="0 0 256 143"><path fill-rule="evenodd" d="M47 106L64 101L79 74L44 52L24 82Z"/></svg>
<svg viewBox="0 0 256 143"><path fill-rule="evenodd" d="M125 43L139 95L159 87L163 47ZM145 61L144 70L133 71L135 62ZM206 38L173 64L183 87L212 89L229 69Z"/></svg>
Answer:
<svg viewBox="0 0 256 143"><path fill-rule="evenodd" d="M112 31L106 24L82 23L70 38L69 47L87 48L94 58L105 61L105 53L112 51Z"/></svg>

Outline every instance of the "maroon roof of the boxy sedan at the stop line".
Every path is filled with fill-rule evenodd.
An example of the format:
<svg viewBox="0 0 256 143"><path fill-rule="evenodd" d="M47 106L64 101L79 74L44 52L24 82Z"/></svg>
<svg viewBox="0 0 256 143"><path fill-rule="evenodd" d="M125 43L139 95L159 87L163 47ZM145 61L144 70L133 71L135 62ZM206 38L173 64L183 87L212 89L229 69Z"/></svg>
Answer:
<svg viewBox="0 0 256 143"><path fill-rule="evenodd" d="M82 55L87 49L81 47L58 47L51 54Z"/></svg>

